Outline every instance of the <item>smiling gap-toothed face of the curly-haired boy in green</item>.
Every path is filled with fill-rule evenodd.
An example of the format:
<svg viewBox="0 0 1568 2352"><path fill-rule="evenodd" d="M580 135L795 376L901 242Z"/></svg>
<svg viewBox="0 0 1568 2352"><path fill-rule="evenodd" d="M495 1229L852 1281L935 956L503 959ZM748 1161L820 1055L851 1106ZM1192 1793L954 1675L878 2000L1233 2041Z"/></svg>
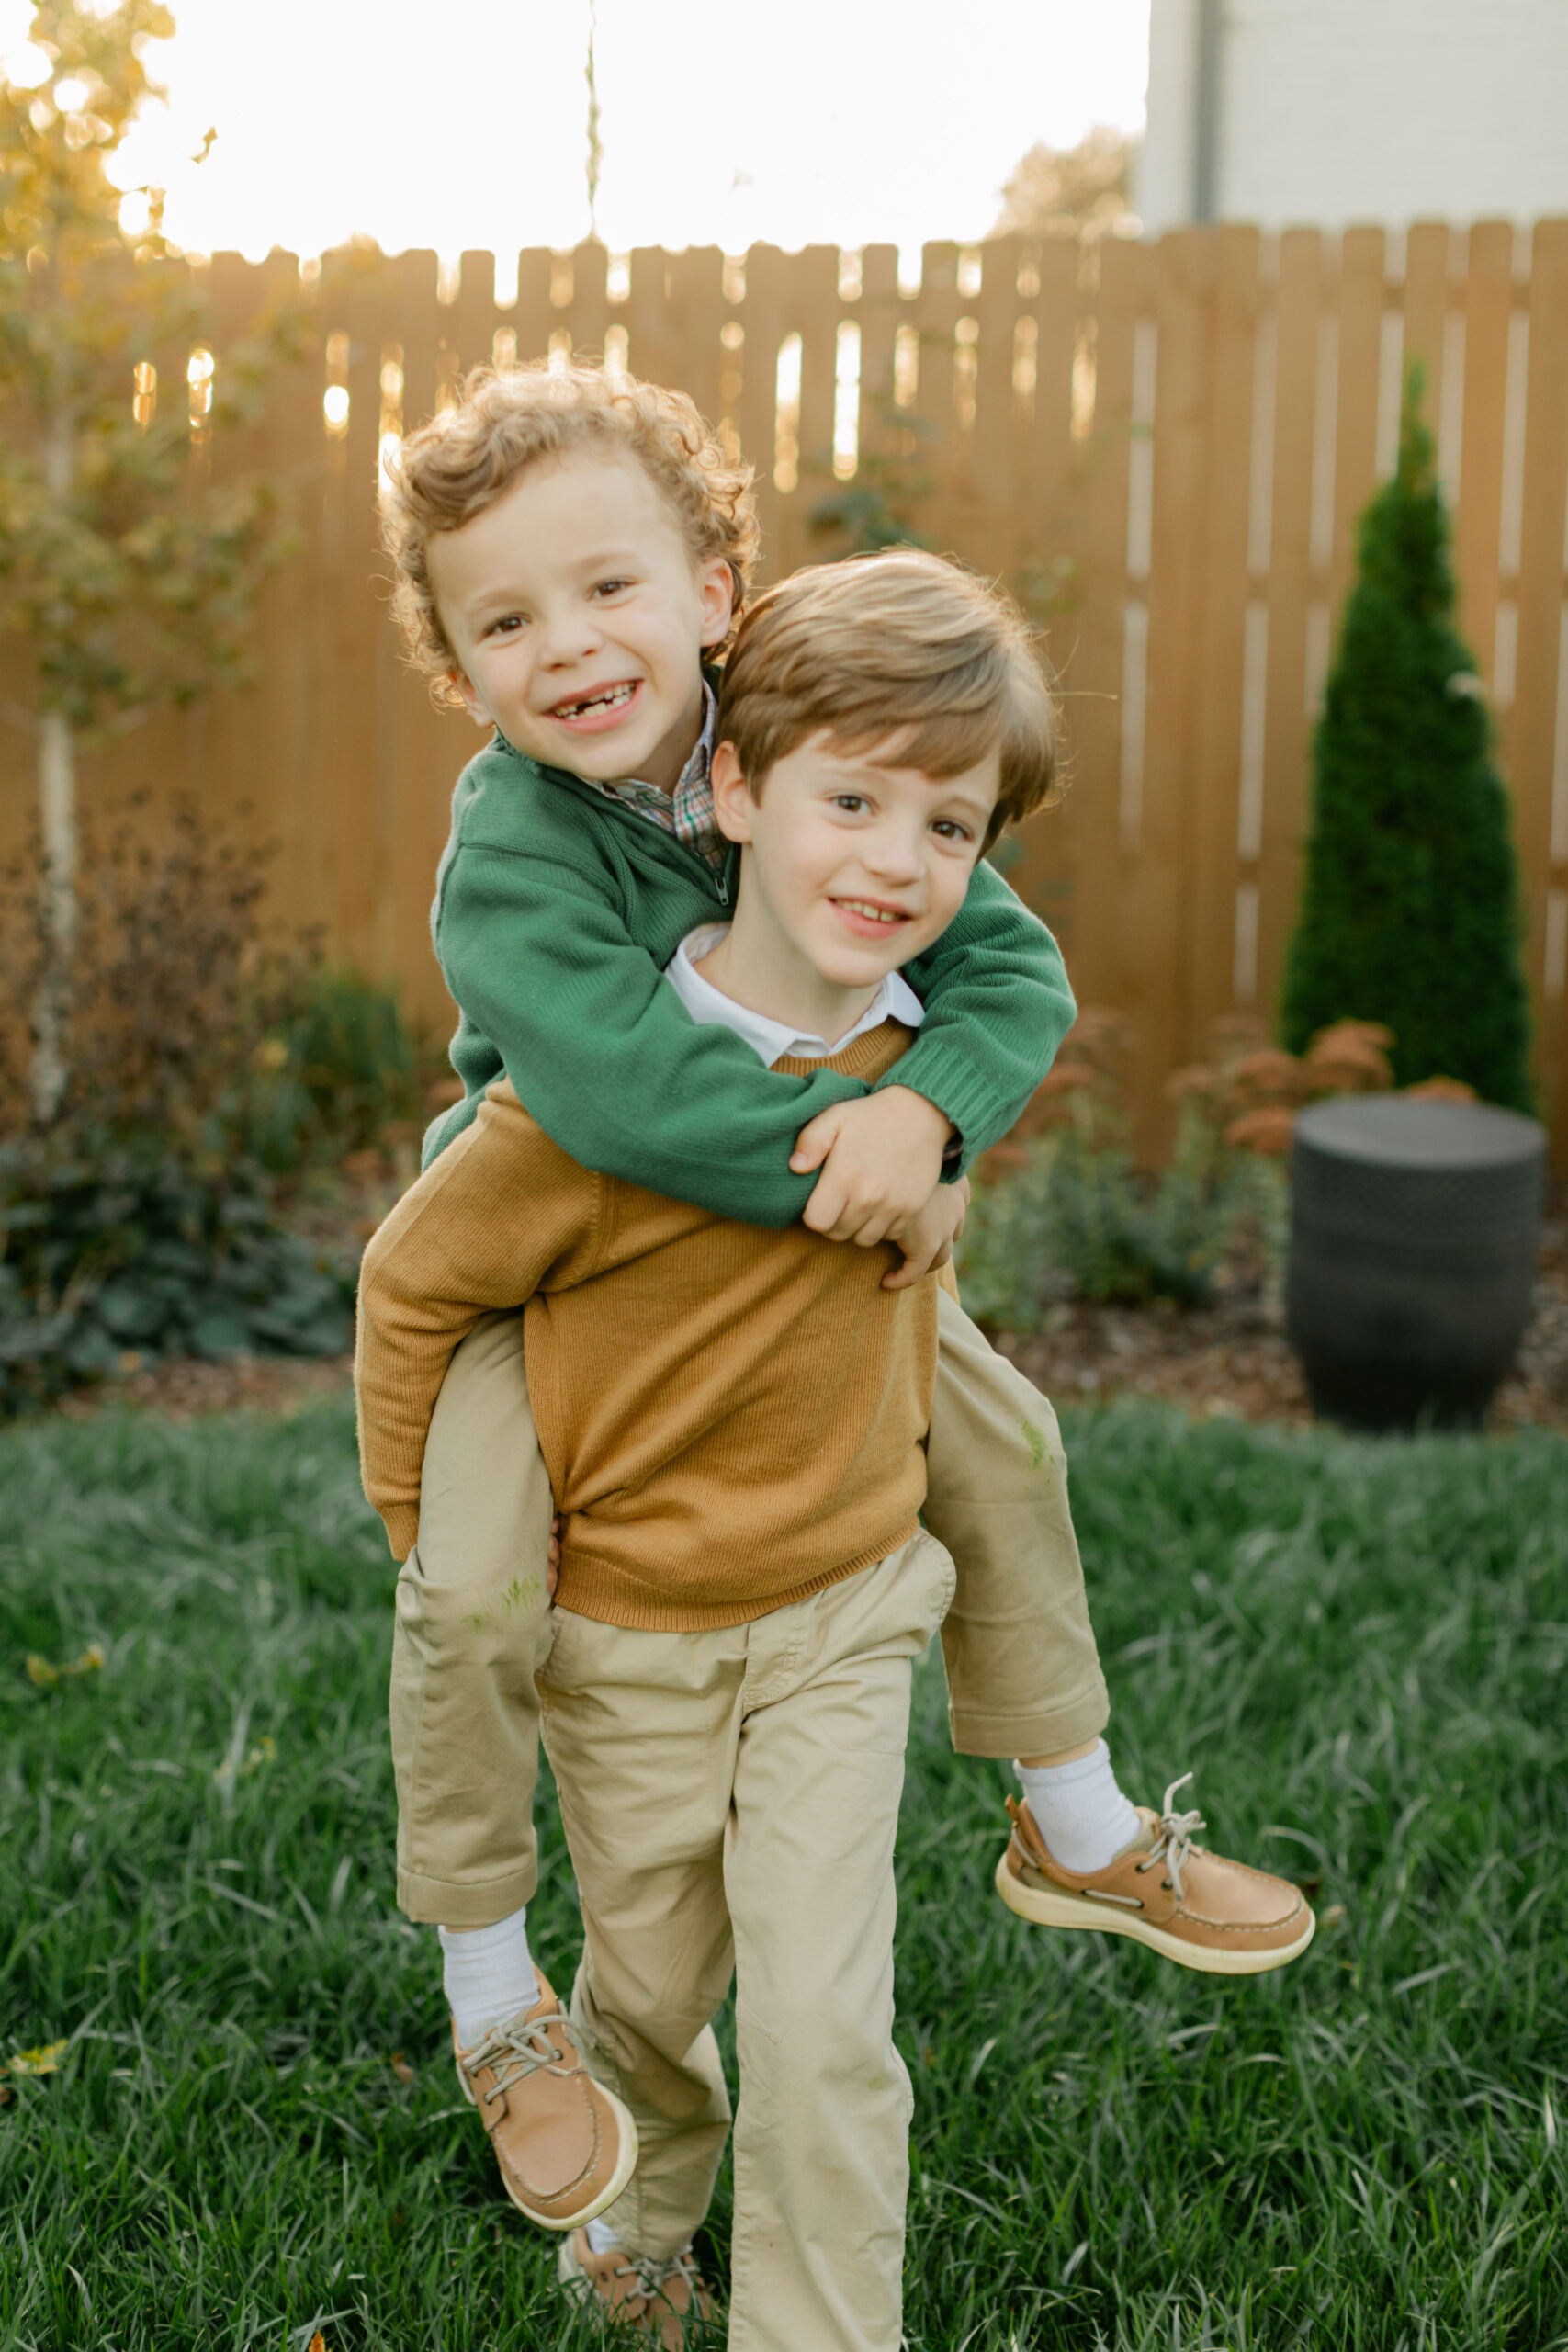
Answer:
<svg viewBox="0 0 1568 2352"><path fill-rule="evenodd" d="M430 539L430 586L480 724L595 783L672 790L703 724L703 647L729 635L722 555L691 557L635 459L529 466Z"/></svg>

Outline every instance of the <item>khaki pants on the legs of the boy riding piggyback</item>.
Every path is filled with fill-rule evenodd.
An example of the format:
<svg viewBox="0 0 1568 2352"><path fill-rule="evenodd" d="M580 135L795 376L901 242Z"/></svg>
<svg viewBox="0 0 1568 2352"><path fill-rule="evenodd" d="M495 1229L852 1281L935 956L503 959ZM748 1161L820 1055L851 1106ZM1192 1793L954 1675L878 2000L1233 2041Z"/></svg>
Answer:
<svg viewBox="0 0 1568 2352"><path fill-rule="evenodd" d="M1110 1705L1056 1414L945 1291L926 1470L924 1522L957 1566L943 1625L954 1748L1053 1755L1093 1738ZM447 1371L418 1545L397 1576L393 1766L409 1919L491 1926L534 1893L550 1510L522 1315L489 1315Z"/></svg>

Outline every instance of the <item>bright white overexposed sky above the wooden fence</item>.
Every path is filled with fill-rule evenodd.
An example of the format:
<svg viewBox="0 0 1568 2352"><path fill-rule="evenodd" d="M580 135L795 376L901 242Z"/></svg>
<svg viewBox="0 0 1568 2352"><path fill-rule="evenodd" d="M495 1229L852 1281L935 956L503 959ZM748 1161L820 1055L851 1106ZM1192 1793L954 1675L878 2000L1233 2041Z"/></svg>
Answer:
<svg viewBox="0 0 1568 2352"><path fill-rule="evenodd" d="M990 0L933 73L926 42L889 42L882 9L842 0L795 0L783 42L766 9L731 9L724 40L705 42L672 40L663 9L599 0L599 240L616 256L884 242L914 275L922 242L987 235L1001 181L1037 139L1072 146L1093 122L1140 125L1147 9ZM115 186L167 188L176 245L261 261L273 247L320 254L364 233L390 254L569 254L588 233L583 7L458 0L440 40L428 0L378 0L374 12L273 0L266 40L233 0L179 0L176 16L172 42L143 42L169 103L148 106L113 158ZM696 28L689 12L677 21ZM31 12L12 16L0 0L12 73L28 26ZM14 87L49 80L33 54ZM827 82L823 56L835 56ZM858 134L867 89L898 139ZM675 118L710 129L672 139ZM216 143L195 165L214 122ZM501 282L510 289L510 261ZM616 270L611 303L618 292Z"/></svg>

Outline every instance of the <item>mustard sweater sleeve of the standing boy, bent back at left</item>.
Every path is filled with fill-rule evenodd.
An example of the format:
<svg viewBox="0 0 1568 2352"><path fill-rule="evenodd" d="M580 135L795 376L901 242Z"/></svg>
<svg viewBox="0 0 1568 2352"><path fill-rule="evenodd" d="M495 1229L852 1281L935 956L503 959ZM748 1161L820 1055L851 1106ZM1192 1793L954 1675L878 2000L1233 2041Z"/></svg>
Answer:
<svg viewBox="0 0 1568 2352"><path fill-rule="evenodd" d="M482 1315L524 1305L574 1258L585 1270L602 1192L501 1082L371 1235L355 1336L360 1477L395 1559L418 1536L425 1439L451 1357Z"/></svg>

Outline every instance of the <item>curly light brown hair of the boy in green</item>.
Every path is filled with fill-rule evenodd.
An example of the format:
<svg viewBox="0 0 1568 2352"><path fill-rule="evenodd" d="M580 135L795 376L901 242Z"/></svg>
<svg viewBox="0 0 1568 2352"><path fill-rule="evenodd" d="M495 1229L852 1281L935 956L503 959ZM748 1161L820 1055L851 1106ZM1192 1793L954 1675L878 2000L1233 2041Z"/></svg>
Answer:
<svg viewBox="0 0 1568 2352"><path fill-rule="evenodd" d="M564 452L630 456L665 499L691 560L722 555L736 583L731 633L757 562L752 468L731 463L684 393L597 367L475 367L454 409L409 433L388 473L381 541L393 560L393 616L414 668L442 703L456 654L430 590L430 539L456 532L527 466ZM729 642L729 640L726 640ZM715 647L708 659L722 647Z"/></svg>

